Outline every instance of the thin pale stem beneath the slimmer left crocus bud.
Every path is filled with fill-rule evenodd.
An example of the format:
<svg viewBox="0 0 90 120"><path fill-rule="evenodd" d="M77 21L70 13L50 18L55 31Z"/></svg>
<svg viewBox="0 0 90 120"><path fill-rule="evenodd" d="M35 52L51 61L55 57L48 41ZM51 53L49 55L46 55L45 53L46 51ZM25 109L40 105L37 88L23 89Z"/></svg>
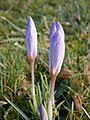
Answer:
<svg viewBox="0 0 90 120"><path fill-rule="evenodd" d="M34 108L39 115L37 101L35 97L35 87L34 87L34 60L30 61L30 66L31 66L31 78L32 78L32 100L33 100Z"/></svg>

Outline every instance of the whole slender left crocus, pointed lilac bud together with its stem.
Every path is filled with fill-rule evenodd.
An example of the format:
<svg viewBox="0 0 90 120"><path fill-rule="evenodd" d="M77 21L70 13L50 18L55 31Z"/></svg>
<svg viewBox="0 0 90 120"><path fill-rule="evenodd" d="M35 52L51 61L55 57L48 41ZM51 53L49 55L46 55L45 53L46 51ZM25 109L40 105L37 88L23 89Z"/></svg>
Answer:
<svg viewBox="0 0 90 120"><path fill-rule="evenodd" d="M32 100L33 100L34 108L39 115L39 110L37 107L37 101L35 97L35 87L34 87L34 62L37 56L37 31L34 21L31 17L28 18L28 22L26 26L26 47L27 47L27 55L31 67Z"/></svg>

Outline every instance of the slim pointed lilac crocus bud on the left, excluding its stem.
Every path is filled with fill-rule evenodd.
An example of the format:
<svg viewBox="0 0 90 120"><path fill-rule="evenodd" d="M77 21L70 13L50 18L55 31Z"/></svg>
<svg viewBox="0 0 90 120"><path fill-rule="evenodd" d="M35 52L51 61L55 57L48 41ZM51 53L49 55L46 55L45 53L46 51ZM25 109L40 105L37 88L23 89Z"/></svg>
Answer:
<svg viewBox="0 0 90 120"><path fill-rule="evenodd" d="M35 59L37 56L37 31L31 17L28 18L26 26L26 48L28 59Z"/></svg>

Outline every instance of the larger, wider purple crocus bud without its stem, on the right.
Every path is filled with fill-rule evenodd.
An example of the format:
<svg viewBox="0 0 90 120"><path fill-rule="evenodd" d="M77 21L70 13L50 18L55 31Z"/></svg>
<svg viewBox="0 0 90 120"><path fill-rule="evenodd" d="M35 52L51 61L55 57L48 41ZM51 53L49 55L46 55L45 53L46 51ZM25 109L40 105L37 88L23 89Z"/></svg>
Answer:
<svg viewBox="0 0 90 120"><path fill-rule="evenodd" d="M61 70L65 54L64 30L59 22L52 23L50 29L49 71L58 75Z"/></svg>

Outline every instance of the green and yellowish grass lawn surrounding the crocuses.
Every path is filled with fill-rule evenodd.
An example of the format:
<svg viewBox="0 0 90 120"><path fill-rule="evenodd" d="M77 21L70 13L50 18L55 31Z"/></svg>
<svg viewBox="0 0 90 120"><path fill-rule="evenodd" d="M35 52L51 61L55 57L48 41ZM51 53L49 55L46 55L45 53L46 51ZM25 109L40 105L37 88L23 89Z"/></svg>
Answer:
<svg viewBox="0 0 90 120"><path fill-rule="evenodd" d="M66 43L63 67L67 66L73 73L73 77L69 80L70 86L67 86L68 79L66 79L55 88L61 97L66 92L61 109L67 109L69 112L67 115L61 114L60 117L61 120L74 120L74 118L89 120L90 80L85 75L86 63L90 62L87 59L90 39L89 0L0 0L0 101L7 102L4 98L6 96L28 117L31 116L31 120L38 119L31 111L30 96L22 91L22 86L25 86L27 81L31 82L25 45L28 16L33 18L38 31L38 56L35 63L36 88L38 83L41 84L42 79L50 82L49 30L52 20L60 21L65 31ZM75 94L78 95L86 110L82 110L79 116L75 114L72 100ZM56 93L57 99L58 96ZM21 120L23 117L7 102L7 104L0 104L0 120L3 119Z"/></svg>

